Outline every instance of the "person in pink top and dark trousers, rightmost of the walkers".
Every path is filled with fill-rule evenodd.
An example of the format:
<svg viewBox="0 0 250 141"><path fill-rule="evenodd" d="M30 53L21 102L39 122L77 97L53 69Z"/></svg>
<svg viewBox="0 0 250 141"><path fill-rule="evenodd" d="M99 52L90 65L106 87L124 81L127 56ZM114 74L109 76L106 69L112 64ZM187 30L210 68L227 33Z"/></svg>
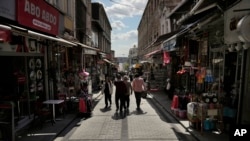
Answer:
<svg viewBox="0 0 250 141"><path fill-rule="evenodd" d="M146 86L144 84L143 78L140 77L139 74L135 74L135 78L132 82L132 88L135 93L135 100L136 100L136 106L137 110L141 110L140 104L141 104L141 95L143 91L145 91Z"/></svg>

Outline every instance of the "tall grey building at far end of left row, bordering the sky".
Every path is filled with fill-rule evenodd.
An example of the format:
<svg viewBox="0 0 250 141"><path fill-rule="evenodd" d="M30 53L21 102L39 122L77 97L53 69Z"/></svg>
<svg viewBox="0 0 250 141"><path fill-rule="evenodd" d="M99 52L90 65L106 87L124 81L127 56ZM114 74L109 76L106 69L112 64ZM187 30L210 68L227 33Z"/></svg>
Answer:
<svg viewBox="0 0 250 141"><path fill-rule="evenodd" d="M94 45L100 48L98 52L100 79L104 80L105 75L111 76L114 54L111 50L111 24L100 3L92 3L92 27Z"/></svg>

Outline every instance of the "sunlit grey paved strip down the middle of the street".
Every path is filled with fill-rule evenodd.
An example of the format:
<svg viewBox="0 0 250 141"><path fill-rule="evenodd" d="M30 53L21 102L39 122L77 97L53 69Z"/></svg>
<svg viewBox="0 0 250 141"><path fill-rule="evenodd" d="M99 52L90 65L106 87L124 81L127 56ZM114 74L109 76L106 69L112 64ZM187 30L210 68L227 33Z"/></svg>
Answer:
<svg viewBox="0 0 250 141"><path fill-rule="evenodd" d="M114 103L114 95L112 98ZM96 105L93 116L82 121L67 140L174 141L192 138L179 123L166 121L159 116L147 99L142 99L141 111L136 110L134 94L130 99L128 113L116 112L115 104L111 108L104 108L102 99Z"/></svg>

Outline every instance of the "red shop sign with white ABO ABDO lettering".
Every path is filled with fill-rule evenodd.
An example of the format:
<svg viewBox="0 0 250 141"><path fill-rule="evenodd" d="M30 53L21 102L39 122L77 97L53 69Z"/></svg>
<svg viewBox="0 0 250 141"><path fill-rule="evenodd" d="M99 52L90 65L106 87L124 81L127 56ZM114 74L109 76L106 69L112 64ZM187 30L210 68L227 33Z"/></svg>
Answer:
<svg viewBox="0 0 250 141"><path fill-rule="evenodd" d="M58 34L59 12L44 0L18 0L17 20L21 25Z"/></svg>

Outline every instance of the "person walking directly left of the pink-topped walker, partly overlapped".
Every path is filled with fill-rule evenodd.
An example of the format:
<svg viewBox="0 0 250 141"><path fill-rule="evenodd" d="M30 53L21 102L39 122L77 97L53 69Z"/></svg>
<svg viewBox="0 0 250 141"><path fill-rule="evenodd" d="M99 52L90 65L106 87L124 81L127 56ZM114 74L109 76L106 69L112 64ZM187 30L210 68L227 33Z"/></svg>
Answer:
<svg viewBox="0 0 250 141"><path fill-rule="evenodd" d="M132 95L132 85L131 82L128 82L129 78L128 76L123 77L123 82L126 84L127 92L124 96L124 102L125 102L125 108L127 111L129 111L129 104L130 104L130 95Z"/></svg>

